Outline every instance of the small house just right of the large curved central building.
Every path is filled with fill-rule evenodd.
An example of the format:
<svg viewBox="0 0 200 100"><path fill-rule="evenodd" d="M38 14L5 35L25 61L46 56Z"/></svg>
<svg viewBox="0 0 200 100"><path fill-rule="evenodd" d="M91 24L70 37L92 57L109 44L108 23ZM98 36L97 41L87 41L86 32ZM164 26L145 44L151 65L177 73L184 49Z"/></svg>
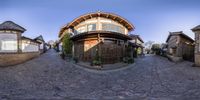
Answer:
<svg viewBox="0 0 200 100"><path fill-rule="evenodd" d="M139 35L130 34L132 39L129 41L129 44L132 46L133 57L144 54L144 41Z"/></svg>

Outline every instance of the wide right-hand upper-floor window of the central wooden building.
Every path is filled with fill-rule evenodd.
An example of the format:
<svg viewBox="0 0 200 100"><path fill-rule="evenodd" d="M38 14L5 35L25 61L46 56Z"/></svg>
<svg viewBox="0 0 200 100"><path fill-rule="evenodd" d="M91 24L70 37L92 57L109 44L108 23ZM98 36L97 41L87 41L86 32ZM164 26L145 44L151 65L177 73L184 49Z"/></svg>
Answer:
<svg viewBox="0 0 200 100"><path fill-rule="evenodd" d="M124 33L124 29L122 27L107 23L102 24L102 30Z"/></svg>

